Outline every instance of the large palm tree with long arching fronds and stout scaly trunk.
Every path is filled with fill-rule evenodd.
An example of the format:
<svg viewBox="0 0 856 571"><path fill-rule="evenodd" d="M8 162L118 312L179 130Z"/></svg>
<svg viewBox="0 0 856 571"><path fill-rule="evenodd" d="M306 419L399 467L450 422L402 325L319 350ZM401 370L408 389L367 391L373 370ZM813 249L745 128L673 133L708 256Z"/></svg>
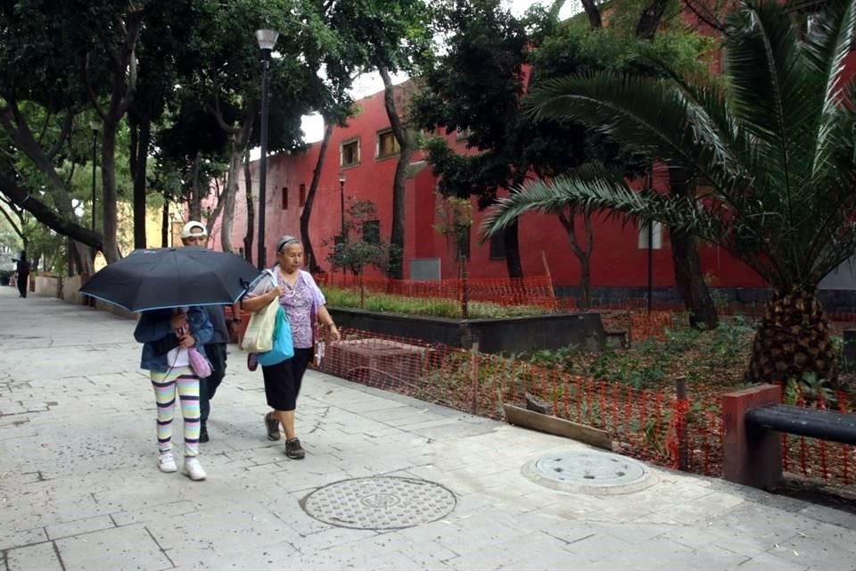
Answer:
<svg viewBox="0 0 856 571"><path fill-rule="evenodd" d="M856 0L831 1L802 33L786 5L747 0L724 38L718 83L610 73L533 90L535 119L577 120L671 168L705 194L634 192L597 165L514 189L485 221L490 234L527 211L575 205L662 222L719 244L770 284L750 381L835 375L816 294L856 247L856 102L843 81L856 38Z"/></svg>

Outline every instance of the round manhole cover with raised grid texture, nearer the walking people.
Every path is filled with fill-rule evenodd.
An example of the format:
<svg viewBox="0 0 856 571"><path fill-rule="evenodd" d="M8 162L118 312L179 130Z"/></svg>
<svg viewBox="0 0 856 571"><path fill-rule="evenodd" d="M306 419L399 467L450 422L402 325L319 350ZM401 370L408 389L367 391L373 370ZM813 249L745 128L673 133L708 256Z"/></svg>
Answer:
<svg viewBox="0 0 856 571"><path fill-rule="evenodd" d="M455 509L455 494L440 484L371 477L327 484L300 501L310 516L354 529L400 529L427 524Z"/></svg>

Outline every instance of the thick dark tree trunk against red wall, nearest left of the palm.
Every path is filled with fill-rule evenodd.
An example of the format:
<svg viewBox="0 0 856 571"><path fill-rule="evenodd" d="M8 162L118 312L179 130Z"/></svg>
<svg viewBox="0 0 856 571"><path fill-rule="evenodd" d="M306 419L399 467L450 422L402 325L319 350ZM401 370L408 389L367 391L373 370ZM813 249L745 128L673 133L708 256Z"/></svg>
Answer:
<svg viewBox="0 0 856 571"><path fill-rule="evenodd" d="M689 325L696 329L715 329L720 324L720 318L711 292L704 283L702 264L695 249L695 236L684 230L671 230L670 241L675 285L689 312Z"/></svg>

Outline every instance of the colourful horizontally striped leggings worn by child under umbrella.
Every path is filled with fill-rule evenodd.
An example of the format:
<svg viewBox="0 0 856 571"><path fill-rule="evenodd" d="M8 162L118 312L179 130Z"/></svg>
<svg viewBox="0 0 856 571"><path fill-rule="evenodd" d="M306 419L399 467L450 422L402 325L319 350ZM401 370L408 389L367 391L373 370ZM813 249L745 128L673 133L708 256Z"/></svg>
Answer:
<svg viewBox="0 0 856 571"><path fill-rule="evenodd" d="M172 419L175 417L176 393L185 418L185 456L199 455L199 378L189 367L172 368L165 373L149 371L158 405L158 448L172 450Z"/></svg>

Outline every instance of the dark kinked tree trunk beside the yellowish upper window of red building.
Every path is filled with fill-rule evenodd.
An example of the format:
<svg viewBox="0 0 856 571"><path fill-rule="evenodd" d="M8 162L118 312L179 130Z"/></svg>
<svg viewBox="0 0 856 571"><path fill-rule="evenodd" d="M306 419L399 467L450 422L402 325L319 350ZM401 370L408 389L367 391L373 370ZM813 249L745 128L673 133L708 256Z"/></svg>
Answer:
<svg viewBox="0 0 856 571"><path fill-rule="evenodd" d="M386 115L390 119L390 126L395 140L399 143L399 161L395 165L395 176L392 178L392 229L390 235L390 261L387 267L387 276L401 279L404 277L404 203L405 184L407 183L407 167L410 165L410 157L413 156L413 140L407 133L407 129L401 123L399 112L395 107L395 90L392 87L392 79L389 70L383 65L378 65L377 70L383 79L383 104L386 107Z"/></svg>

